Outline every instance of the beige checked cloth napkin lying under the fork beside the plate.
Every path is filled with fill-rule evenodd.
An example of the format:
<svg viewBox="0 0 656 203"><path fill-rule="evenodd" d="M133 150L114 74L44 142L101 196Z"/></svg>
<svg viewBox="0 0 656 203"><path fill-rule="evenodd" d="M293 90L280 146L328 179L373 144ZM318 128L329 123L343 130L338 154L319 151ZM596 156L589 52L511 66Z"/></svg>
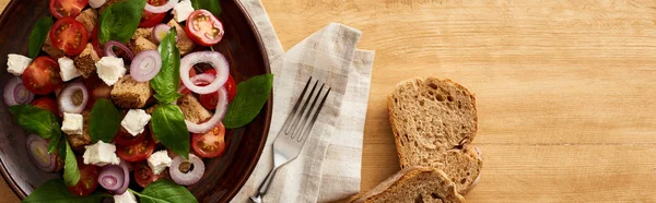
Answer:
<svg viewBox="0 0 656 203"><path fill-rule="evenodd" d="M327 202L358 193L374 52L356 49L361 32L337 23L283 52L261 2L242 2L265 41L276 80L267 145L232 202L248 202L272 168L272 143L309 76L332 92L301 155L278 170L263 202Z"/></svg>

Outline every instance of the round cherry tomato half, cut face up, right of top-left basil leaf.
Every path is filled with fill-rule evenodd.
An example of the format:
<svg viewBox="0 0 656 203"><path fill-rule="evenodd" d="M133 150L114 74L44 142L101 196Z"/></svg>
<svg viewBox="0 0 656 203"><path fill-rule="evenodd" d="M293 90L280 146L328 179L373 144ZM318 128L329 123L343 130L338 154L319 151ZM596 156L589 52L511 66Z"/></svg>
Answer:
<svg viewBox="0 0 656 203"><path fill-rule="evenodd" d="M50 28L49 37L52 46L63 50L68 56L80 55L89 41L86 28L73 17L57 20Z"/></svg>

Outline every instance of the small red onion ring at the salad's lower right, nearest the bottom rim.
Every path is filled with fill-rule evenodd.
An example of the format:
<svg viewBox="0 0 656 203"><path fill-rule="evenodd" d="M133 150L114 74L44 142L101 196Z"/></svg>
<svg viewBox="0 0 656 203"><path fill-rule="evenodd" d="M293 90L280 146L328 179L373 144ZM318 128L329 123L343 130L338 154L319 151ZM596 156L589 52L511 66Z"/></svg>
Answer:
<svg viewBox="0 0 656 203"><path fill-rule="evenodd" d="M179 166L183 163L191 163L194 169L187 172L180 171ZM181 156L176 156L173 158L173 163L171 164L168 170L171 172L171 179L173 179L175 183L181 186L191 186L198 182L202 178L202 175L204 175L204 163L202 163L202 159L194 154L189 154L188 162Z"/></svg>

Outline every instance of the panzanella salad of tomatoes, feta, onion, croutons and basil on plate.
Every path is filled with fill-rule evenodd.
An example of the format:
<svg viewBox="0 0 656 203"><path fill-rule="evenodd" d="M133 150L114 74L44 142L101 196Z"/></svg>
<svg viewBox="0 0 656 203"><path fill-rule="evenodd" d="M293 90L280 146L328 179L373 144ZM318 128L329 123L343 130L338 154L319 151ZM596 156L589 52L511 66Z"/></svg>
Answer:
<svg viewBox="0 0 656 203"><path fill-rule="evenodd" d="M197 202L185 186L223 155L225 129L259 114L273 81L235 83L239 67L212 48L219 1L50 0L50 12L27 56L8 56L4 101L33 133L30 157L63 177L24 202Z"/></svg>

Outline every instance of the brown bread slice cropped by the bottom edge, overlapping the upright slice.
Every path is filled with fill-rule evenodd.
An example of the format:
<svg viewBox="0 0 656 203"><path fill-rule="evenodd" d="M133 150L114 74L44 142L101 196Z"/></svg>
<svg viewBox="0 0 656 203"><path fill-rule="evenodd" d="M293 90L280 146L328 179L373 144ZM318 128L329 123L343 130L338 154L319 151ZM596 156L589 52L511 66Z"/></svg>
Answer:
<svg viewBox="0 0 656 203"><path fill-rule="evenodd" d="M461 203L456 184L441 170L431 167L408 167L364 193L356 203Z"/></svg>

